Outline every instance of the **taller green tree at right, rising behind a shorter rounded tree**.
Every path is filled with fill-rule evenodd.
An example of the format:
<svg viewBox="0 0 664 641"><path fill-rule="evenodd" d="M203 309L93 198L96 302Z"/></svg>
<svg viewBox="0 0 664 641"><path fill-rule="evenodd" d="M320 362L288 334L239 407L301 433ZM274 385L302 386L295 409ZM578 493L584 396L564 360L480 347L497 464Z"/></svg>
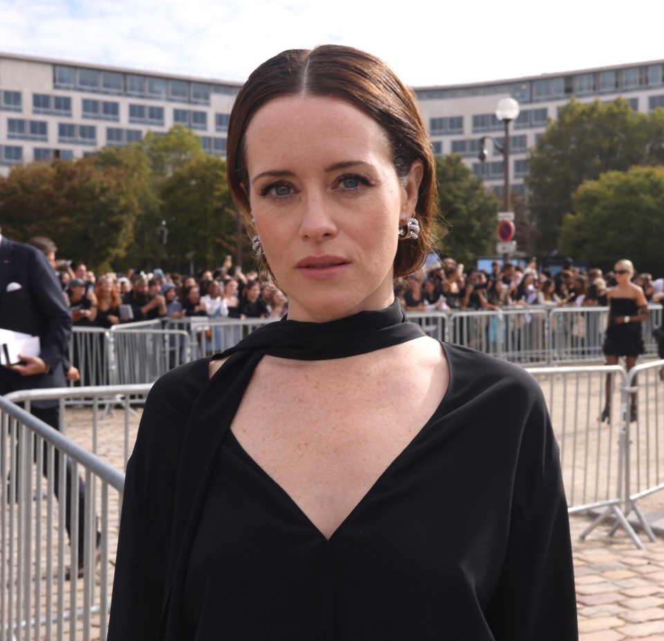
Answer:
<svg viewBox="0 0 664 641"><path fill-rule="evenodd" d="M632 165L664 159L664 115L637 113L618 98L602 104L572 99L529 154L528 203L540 232L540 250L557 247L563 216L573 212L572 194L584 180Z"/></svg>

